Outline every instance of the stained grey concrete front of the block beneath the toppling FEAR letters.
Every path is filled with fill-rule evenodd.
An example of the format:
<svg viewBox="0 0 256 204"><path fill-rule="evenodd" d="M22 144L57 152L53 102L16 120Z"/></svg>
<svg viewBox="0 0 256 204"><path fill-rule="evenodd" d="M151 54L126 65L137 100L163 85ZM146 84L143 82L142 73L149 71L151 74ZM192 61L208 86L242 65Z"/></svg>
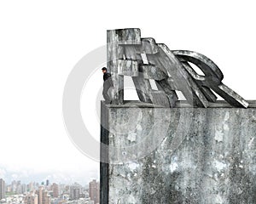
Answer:
<svg viewBox="0 0 256 204"><path fill-rule="evenodd" d="M256 103L249 103L102 102L110 163L101 166L101 203L256 203Z"/></svg>

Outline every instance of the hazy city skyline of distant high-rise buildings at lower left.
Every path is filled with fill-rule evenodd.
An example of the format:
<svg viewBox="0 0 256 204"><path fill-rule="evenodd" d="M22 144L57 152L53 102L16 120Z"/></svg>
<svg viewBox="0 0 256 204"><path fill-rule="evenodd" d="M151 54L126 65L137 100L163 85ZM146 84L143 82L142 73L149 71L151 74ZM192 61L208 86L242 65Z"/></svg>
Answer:
<svg viewBox="0 0 256 204"><path fill-rule="evenodd" d="M100 183L92 179L89 184L56 184L49 179L41 182L23 184L13 180L7 184L0 178L1 204L98 204Z"/></svg>

